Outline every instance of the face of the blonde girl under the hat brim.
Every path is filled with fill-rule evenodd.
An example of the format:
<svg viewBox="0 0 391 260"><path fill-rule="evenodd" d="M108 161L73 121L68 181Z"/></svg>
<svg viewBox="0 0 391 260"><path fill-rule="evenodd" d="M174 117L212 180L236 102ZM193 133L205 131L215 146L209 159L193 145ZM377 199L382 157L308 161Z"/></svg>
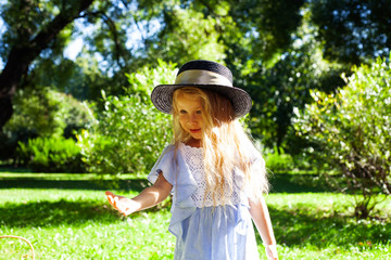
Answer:
<svg viewBox="0 0 391 260"><path fill-rule="evenodd" d="M181 94L177 99L179 123L195 140L202 139L203 117L199 98Z"/></svg>

